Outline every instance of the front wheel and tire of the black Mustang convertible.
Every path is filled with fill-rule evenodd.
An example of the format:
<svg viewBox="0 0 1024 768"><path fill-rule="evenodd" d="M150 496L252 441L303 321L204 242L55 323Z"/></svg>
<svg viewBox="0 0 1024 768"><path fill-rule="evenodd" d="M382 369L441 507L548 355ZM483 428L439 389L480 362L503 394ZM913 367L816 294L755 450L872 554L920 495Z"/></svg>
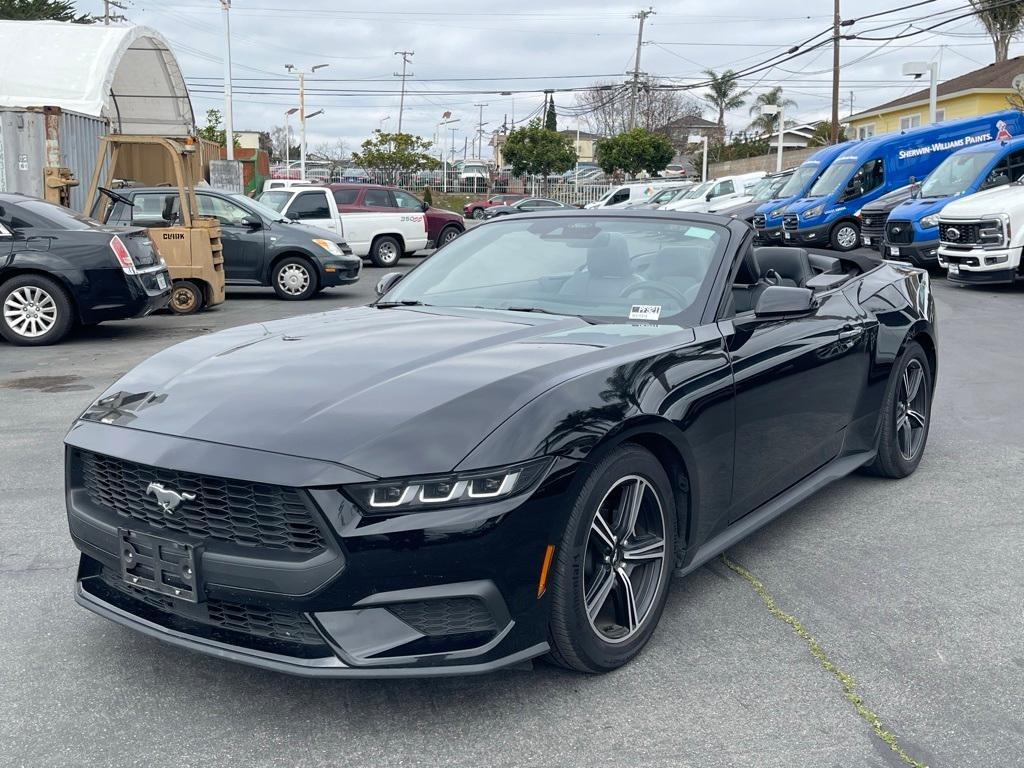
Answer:
<svg viewBox="0 0 1024 768"><path fill-rule="evenodd" d="M630 529L624 522L629 516L622 512L637 490L640 506ZM598 674L622 667L640 652L669 595L675 509L665 469L639 445L615 449L590 471L552 573L550 662ZM632 612L628 594L633 596Z"/></svg>

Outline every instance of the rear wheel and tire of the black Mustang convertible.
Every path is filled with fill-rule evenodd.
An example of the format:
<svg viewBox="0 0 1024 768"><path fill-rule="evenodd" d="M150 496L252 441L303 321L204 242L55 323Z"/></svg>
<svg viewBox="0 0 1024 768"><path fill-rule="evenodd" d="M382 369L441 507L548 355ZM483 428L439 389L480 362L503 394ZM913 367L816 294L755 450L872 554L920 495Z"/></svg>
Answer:
<svg viewBox="0 0 1024 768"><path fill-rule="evenodd" d="M886 389L879 453L864 468L866 473L906 477L921 464L932 425L932 376L921 344L907 343Z"/></svg>

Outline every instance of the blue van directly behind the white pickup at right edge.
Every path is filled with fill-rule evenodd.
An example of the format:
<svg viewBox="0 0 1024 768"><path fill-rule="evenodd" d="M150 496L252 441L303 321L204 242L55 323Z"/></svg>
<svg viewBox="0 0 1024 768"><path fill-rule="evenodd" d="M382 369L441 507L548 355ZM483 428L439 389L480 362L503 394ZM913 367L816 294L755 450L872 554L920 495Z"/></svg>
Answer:
<svg viewBox="0 0 1024 768"><path fill-rule="evenodd" d="M916 198L893 209L883 237L883 257L918 266L937 264L939 213L946 204L1021 176L1024 137L988 141L953 153L928 174Z"/></svg>

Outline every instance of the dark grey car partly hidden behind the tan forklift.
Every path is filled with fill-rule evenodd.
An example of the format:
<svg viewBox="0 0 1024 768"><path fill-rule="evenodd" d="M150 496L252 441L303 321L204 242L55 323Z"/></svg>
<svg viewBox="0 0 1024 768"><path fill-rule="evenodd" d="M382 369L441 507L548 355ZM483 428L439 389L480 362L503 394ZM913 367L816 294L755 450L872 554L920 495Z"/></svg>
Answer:
<svg viewBox="0 0 1024 768"><path fill-rule="evenodd" d="M166 186L118 189L108 223L167 226L178 217L178 195ZM296 223L245 195L196 190L199 212L220 222L224 282L271 286L279 298L302 301L359 279L362 259L337 232Z"/></svg>

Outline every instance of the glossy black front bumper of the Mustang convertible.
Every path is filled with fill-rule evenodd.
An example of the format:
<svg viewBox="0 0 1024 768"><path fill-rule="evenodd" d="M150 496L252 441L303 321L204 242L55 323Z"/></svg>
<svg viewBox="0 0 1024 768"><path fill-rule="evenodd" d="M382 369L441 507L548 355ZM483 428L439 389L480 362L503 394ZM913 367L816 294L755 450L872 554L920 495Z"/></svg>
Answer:
<svg viewBox="0 0 1024 768"><path fill-rule="evenodd" d="M296 552L199 536L196 525L206 523L194 511L175 529L153 510L136 515L135 507L119 512L97 503L105 497L89 485L95 480L79 455L119 454L112 461L130 468L117 477L134 478L136 487L152 473L162 481L173 473L175 487L202 494L220 487L219 478L204 473L223 473L225 461L244 451L208 445L205 457L191 460L190 441L160 437L141 447L148 438L96 424L69 435L69 526L82 552L76 599L89 610L175 645L312 677L479 674L548 650L548 596L538 595L538 580L546 547L559 540L571 508L566 488L574 465L556 465L527 497L375 518L324 487L336 467L306 460L279 467L272 457L245 452L231 493L255 483L265 499L280 483L305 500L323 546ZM115 487L127 493L127 485ZM290 514L301 511L293 505ZM239 523L237 510L220 509L210 526L221 534L240 524L273 528L272 512L264 504L252 513L258 523ZM195 601L130 583L123 547L132 535L195 549Z"/></svg>

